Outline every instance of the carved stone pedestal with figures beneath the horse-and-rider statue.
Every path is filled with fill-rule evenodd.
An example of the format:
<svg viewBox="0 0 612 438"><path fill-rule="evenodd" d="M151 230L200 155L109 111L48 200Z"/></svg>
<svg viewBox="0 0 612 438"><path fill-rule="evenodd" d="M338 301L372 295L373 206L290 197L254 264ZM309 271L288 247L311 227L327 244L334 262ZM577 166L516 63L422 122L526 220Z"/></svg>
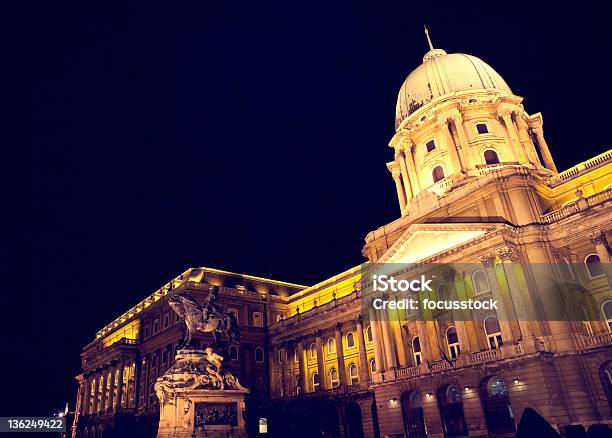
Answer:
<svg viewBox="0 0 612 438"><path fill-rule="evenodd" d="M221 366L212 349L180 350L155 383L157 438L246 438L244 398L249 390Z"/></svg>

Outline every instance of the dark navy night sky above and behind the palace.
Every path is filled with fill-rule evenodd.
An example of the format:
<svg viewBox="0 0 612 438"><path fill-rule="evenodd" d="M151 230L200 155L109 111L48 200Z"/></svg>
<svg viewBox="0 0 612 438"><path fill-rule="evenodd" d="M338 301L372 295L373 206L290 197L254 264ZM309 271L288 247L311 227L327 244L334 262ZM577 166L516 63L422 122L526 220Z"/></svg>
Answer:
<svg viewBox="0 0 612 438"><path fill-rule="evenodd" d="M33 222L6 415L72 408L95 331L189 267L313 284L362 262L399 215L387 144L423 24L543 113L560 169L610 147L609 22L586 2L123 3L10 11Z"/></svg>

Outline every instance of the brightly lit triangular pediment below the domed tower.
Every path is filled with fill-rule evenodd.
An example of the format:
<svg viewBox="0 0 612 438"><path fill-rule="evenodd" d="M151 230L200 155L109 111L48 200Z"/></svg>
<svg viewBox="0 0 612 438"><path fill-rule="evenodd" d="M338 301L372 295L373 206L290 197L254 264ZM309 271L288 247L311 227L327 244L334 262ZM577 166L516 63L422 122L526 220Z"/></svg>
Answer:
<svg viewBox="0 0 612 438"><path fill-rule="evenodd" d="M501 227L501 224L412 224L377 263L416 263Z"/></svg>

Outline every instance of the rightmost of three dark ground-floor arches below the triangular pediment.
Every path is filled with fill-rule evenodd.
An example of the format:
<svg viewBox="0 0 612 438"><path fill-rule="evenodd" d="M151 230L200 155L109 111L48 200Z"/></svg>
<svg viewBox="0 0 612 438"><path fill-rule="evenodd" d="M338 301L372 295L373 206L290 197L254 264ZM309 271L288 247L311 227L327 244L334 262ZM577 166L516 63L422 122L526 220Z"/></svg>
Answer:
<svg viewBox="0 0 612 438"><path fill-rule="evenodd" d="M493 376L484 379L480 385L480 397L489 433L516 432L508 389L501 377Z"/></svg>

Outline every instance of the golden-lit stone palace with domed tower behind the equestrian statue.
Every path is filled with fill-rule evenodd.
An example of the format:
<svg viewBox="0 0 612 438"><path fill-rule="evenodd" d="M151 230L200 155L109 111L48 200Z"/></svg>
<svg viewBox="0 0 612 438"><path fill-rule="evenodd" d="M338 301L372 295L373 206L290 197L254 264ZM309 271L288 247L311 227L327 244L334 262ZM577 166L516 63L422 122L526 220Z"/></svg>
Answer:
<svg viewBox="0 0 612 438"><path fill-rule="evenodd" d="M612 151L558 172L540 113L482 60L433 48L400 89L389 146L400 215L363 255L461 262L450 281L497 312L370 318L360 266L310 287L190 269L83 349L75 435L154 436L153 383L182 336L167 297L209 285L242 332L226 363L251 389L253 436L259 418L266 436L504 436L526 407L559 429L612 423ZM597 317L551 321L543 279L588 291L574 310Z"/></svg>

